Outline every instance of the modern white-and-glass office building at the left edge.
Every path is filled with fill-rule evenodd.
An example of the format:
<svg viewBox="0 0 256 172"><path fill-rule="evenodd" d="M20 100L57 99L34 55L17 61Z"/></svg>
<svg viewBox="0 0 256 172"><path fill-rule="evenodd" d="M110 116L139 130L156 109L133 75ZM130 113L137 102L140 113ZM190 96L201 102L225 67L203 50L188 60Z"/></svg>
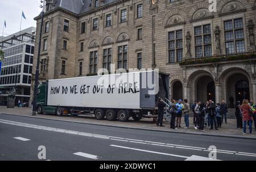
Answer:
<svg viewBox="0 0 256 172"><path fill-rule="evenodd" d="M0 105L7 104L7 97L13 88L16 89L16 105L18 100L22 103L30 100L35 29L27 28L0 39L0 49L5 53L0 79Z"/></svg>

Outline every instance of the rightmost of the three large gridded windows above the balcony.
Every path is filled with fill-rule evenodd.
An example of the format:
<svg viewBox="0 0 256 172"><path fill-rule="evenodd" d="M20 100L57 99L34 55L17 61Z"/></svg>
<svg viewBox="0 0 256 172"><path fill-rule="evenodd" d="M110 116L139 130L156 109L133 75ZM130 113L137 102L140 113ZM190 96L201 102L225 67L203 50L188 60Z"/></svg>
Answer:
<svg viewBox="0 0 256 172"><path fill-rule="evenodd" d="M245 52L245 35L243 32L243 19L224 21L226 54Z"/></svg>

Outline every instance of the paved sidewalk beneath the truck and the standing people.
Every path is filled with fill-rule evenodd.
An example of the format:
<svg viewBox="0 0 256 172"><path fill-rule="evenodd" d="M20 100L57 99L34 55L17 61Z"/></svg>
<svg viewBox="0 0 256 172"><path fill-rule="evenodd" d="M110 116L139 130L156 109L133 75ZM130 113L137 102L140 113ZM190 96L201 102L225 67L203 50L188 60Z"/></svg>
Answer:
<svg viewBox="0 0 256 172"><path fill-rule="evenodd" d="M153 130L153 131L164 131L164 132L176 132L183 134L197 134L197 135L210 135L210 136L223 136L223 137L237 137L237 138L247 138L247 139L256 139L256 132L253 126L253 134L248 134L249 130L247 129L247 135L242 135L242 129L236 128L236 119L228 119L228 124L222 124L219 130L209 130L209 128L205 128L205 132L196 131L193 128L193 118L190 118L190 127L188 129L184 129L184 118L181 119L181 128L177 128L177 130L170 129L170 123L164 121L163 124L165 127L157 127L152 119L143 118L141 121L135 122L132 118L130 118L129 122L119 122L119 121L98 121L94 117L90 116L63 116L57 117L55 115L39 115L37 114L35 117L32 116L31 108L14 108L8 109L5 106L0 106L0 114L11 114L11 115L21 115L25 117L32 118L43 118L43 119L52 119L66 122L79 122L86 124L98 124L104 126L114 126L114 127L123 127L123 128L136 128L142 130ZM192 115L191 115L192 117Z"/></svg>

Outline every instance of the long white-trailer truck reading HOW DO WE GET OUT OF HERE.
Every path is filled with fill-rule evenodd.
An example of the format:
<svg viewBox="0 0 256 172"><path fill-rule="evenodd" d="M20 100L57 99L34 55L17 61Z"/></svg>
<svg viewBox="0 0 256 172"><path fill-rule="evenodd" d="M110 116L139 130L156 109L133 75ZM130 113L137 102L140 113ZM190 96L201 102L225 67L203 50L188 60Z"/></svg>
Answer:
<svg viewBox="0 0 256 172"><path fill-rule="evenodd" d="M55 79L40 83L38 114L94 115L127 122L157 118L159 97L169 99L170 75L159 71Z"/></svg>

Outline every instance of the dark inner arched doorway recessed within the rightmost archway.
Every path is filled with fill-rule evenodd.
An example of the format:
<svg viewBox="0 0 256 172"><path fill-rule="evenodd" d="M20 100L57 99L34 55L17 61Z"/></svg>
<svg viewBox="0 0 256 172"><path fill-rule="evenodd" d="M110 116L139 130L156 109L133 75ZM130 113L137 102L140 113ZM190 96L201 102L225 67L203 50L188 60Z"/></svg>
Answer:
<svg viewBox="0 0 256 172"><path fill-rule="evenodd" d="M236 101L242 102L243 99L250 100L250 88L249 82L246 80L239 80L235 86L236 89Z"/></svg>

